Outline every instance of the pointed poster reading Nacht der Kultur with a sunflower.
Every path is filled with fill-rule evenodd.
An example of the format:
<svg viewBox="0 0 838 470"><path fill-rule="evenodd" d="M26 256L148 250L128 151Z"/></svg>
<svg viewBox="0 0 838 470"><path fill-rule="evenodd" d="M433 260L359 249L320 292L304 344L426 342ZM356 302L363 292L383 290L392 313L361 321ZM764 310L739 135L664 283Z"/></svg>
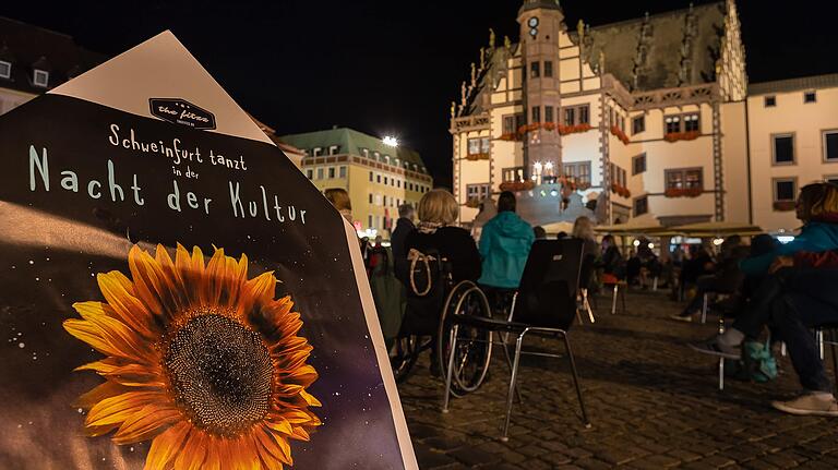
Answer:
<svg viewBox="0 0 838 470"><path fill-rule="evenodd" d="M0 157L0 468L416 468L352 228L170 33Z"/></svg>

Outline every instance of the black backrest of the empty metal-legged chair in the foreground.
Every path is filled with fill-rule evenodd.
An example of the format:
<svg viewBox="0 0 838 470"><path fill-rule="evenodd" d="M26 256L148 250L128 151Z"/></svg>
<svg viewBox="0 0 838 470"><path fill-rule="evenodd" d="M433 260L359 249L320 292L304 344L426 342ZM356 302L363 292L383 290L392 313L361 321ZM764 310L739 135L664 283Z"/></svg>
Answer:
<svg viewBox="0 0 838 470"><path fill-rule="evenodd" d="M567 329L576 316L583 241L538 240L527 257L513 321Z"/></svg>

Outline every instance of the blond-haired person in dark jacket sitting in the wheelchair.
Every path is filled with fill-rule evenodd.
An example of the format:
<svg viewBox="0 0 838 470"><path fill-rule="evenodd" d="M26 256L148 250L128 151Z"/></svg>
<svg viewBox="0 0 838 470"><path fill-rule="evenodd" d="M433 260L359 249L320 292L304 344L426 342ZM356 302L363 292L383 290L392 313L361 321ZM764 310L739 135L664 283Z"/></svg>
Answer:
<svg viewBox="0 0 838 470"><path fill-rule="evenodd" d="M419 224L416 230L409 232L405 238L406 256L409 256L411 252L415 254L417 252L433 254L446 260L445 264L450 267L453 284L462 280L476 281L481 272L480 253L477 251L471 234L455 226L459 215L459 206L454 196L445 190L431 190L424 193L419 201L418 213ZM445 279L438 279L436 281L446 282ZM414 294L408 294L402 332L435 337L443 308L442 303L444 302L444 286L433 286L433 292L430 292L430 296L417 296L416 287L412 286L414 282L409 275L405 284L408 292ZM434 339L431 345L433 345L431 373L436 375L440 371L438 351L435 350L436 340Z"/></svg>

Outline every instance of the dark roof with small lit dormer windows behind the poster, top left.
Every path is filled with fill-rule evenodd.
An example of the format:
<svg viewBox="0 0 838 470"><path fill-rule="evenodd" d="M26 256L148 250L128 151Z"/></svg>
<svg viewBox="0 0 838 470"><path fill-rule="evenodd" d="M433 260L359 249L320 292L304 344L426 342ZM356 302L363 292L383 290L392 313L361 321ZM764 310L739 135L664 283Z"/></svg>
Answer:
<svg viewBox="0 0 838 470"><path fill-rule="evenodd" d="M40 94L105 61L106 57L75 44L72 37L0 16L0 60L12 64L12 76L0 87ZM49 72L48 87L33 84L33 70Z"/></svg>

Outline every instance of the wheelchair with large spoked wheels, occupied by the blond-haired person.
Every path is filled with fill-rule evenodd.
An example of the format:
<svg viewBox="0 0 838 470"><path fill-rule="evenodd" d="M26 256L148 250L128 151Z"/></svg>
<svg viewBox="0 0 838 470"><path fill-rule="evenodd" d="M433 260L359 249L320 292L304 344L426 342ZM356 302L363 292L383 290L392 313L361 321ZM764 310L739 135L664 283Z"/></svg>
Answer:
<svg viewBox="0 0 838 470"><path fill-rule="evenodd" d="M492 317L489 300L472 281L454 284L447 260L435 254L417 255L410 266L408 306L402 330L391 348L390 359L397 383L407 381L419 355L430 350L432 367L447 376L455 315ZM492 355L492 333L459 328L452 372L452 394L477 390L486 378Z"/></svg>

